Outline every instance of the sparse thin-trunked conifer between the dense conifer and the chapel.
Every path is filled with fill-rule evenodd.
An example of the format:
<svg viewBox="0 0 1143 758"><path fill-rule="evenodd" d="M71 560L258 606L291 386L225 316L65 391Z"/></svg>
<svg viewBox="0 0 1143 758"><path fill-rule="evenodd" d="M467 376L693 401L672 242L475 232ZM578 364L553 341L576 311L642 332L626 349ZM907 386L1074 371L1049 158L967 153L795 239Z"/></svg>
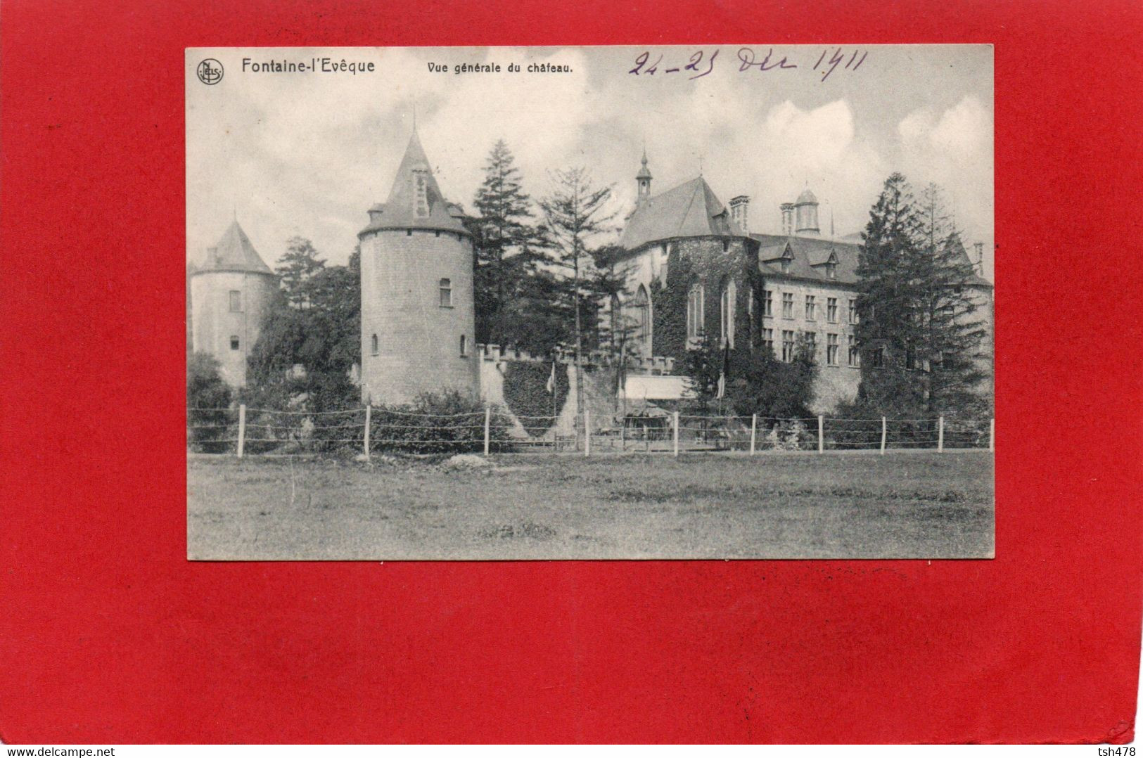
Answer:
<svg viewBox="0 0 1143 758"><path fill-rule="evenodd" d="M593 289L589 286L597 279L590 245L598 234L610 231L608 224L615 216L608 209L612 187L594 186L585 168L557 170L551 177L552 191L539 201L539 207L544 213L545 238L555 250L553 263L565 273L563 300L570 301L568 310L574 317L576 410L582 412L584 327L594 327L598 314ZM592 321L585 321L585 311Z"/></svg>

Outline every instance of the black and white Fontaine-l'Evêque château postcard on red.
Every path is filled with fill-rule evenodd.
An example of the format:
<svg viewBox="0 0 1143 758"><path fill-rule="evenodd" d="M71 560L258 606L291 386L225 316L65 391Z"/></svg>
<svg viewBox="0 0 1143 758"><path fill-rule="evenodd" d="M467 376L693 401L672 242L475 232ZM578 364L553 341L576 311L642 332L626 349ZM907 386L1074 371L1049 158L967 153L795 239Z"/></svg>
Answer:
<svg viewBox="0 0 1143 758"><path fill-rule="evenodd" d="M185 82L189 559L994 557L991 46Z"/></svg>

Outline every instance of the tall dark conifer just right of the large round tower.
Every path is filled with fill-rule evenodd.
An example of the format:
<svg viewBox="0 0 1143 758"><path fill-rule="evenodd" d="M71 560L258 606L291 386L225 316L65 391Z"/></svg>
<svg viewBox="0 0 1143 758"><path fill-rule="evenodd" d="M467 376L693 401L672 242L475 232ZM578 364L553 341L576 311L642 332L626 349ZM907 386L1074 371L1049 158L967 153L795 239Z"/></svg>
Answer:
<svg viewBox="0 0 1143 758"><path fill-rule="evenodd" d="M520 301L530 296L528 278L542 258L531 199L523 191L519 169L503 139L493 145L485 178L469 223L477 248L474 288L477 342L510 344L521 332Z"/></svg>

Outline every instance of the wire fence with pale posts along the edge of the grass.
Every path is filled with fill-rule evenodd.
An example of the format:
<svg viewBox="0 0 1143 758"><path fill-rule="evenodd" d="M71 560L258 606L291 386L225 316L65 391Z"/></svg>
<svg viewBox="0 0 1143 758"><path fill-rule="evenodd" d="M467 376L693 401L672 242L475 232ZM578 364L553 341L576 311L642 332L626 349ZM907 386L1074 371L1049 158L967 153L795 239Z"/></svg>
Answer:
<svg viewBox="0 0 1143 758"><path fill-rule="evenodd" d="M491 406L454 414L361 406L307 412L187 408L187 449L222 455L354 453L684 453L994 449L992 418L834 418L656 415L511 416Z"/></svg>

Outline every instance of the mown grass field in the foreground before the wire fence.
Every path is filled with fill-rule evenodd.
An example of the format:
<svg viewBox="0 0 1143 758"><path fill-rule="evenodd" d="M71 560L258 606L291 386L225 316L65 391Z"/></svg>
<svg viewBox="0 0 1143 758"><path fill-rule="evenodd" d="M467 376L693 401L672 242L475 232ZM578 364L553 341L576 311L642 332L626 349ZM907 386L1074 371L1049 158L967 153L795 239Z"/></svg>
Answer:
<svg viewBox="0 0 1143 758"><path fill-rule="evenodd" d="M992 455L192 458L191 559L982 558Z"/></svg>

